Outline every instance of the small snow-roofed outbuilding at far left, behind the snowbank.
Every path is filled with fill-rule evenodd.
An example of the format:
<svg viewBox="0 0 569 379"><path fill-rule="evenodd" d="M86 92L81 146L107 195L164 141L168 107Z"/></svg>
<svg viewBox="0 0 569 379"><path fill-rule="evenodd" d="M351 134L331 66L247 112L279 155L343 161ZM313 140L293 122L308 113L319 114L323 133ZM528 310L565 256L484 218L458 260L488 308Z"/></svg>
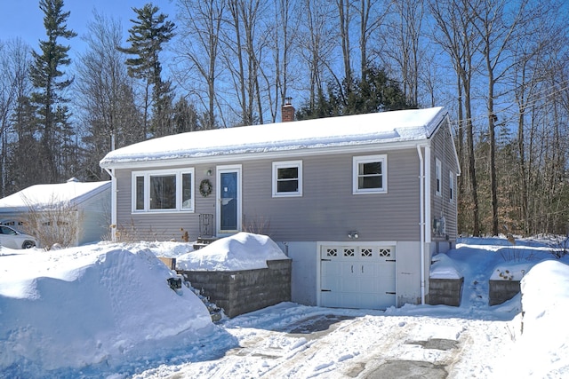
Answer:
<svg viewBox="0 0 569 379"><path fill-rule="evenodd" d="M27 230L30 217L52 225L58 222L52 218L64 212L65 224L71 217L78 225L72 246L101 241L109 234L110 189L110 181L83 183L76 178L62 184L29 186L0 199L0 224Z"/></svg>

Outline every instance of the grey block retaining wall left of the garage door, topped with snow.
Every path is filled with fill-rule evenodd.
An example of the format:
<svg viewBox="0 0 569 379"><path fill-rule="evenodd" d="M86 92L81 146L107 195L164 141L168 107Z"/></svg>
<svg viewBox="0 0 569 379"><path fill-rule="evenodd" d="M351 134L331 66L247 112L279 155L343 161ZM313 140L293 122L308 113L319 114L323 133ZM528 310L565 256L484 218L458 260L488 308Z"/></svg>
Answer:
<svg viewBox="0 0 569 379"><path fill-rule="evenodd" d="M291 259L267 261L268 268L244 271L179 271L193 288L228 317L291 301Z"/></svg>

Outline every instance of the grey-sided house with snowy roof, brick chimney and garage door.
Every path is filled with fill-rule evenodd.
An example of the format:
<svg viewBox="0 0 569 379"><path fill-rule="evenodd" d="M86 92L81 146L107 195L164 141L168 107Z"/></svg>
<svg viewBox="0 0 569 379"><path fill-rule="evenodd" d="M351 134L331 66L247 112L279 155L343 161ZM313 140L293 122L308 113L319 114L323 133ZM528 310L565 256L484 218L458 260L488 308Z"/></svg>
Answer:
<svg viewBox="0 0 569 379"><path fill-rule="evenodd" d="M301 304L424 302L430 258L457 236L460 169L442 107L189 132L100 166L113 224L140 238L193 240L208 223L217 237L267 234L293 258Z"/></svg>

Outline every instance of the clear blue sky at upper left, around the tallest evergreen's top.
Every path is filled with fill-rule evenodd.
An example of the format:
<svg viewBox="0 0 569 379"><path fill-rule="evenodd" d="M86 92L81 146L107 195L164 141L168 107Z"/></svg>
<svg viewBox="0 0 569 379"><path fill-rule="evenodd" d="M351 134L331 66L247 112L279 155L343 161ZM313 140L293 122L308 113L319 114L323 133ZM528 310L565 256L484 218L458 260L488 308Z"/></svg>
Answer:
<svg viewBox="0 0 569 379"><path fill-rule="evenodd" d="M78 51L84 51L84 43L81 37L87 30L87 24L92 21L92 12L98 12L121 21L124 34L127 36L128 28L131 27L130 19L135 18L132 7L141 8L150 0L64 0L64 10L71 12L68 18L68 28L73 29L77 36L69 43L72 46L70 54L75 55ZM161 12L169 15L174 20L175 4L172 0L155 0L153 4L158 6ZM0 0L3 10L2 22L0 22L0 41L6 41L14 37L21 37L33 49L38 49L38 41L45 39L44 13L39 9L39 0ZM65 41L62 43L67 44ZM75 51L74 51L75 50Z"/></svg>

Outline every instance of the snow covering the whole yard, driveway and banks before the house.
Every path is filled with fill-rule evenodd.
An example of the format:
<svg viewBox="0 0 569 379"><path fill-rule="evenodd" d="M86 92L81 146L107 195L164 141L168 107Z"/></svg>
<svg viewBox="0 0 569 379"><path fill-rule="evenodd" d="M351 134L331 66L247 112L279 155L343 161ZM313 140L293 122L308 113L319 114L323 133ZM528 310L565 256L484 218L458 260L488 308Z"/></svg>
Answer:
<svg viewBox="0 0 569 379"><path fill-rule="evenodd" d="M569 257L540 241L461 242L432 272L464 276L461 307L284 303L219 324L190 288L168 287L156 256L262 266L262 251L279 256L272 241L241 234L199 260L173 242L0 249L0 377L567 377ZM523 275L523 296L488 306L488 280L505 275Z"/></svg>

